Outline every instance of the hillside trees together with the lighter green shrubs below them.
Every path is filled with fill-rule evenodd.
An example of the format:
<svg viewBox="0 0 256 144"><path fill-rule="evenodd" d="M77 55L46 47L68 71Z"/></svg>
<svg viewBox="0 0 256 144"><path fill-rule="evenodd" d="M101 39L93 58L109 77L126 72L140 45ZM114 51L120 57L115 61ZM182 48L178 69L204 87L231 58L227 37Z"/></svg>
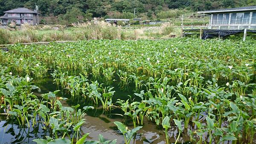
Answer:
<svg viewBox="0 0 256 144"><path fill-rule="evenodd" d="M92 17L147 19L177 18L182 13L253 6L255 0L2 0L0 15L18 7L35 9L43 19L41 23L67 24L91 20ZM135 15L134 15L135 9ZM180 10L174 10L180 9ZM186 10L186 11L185 11Z"/></svg>

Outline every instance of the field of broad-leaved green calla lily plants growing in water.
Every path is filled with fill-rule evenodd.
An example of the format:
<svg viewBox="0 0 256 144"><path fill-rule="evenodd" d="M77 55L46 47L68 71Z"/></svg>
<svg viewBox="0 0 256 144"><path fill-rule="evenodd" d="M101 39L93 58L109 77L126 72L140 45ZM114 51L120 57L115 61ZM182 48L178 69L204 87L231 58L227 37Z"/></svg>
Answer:
<svg viewBox="0 0 256 144"><path fill-rule="evenodd" d="M131 121L131 130L114 122L127 144L143 129L144 119L162 127L167 144L172 142L169 133L173 130L178 135L175 144L185 132L198 144L252 144L256 130L255 42L174 38L17 44L9 52L0 51L0 110L22 126L42 124L51 137L40 140L44 143L86 141L87 134L80 136L83 115L87 109L102 106L106 112L121 109L118 115L126 124ZM49 69L62 92L76 101L90 101L91 106L64 107L60 101L66 98L56 96L59 90L35 96L33 92L39 88L32 78L47 77ZM113 101L114 81L121 89L132 86L134 95ZM94 142L102 141L99 135Z"/></svg>

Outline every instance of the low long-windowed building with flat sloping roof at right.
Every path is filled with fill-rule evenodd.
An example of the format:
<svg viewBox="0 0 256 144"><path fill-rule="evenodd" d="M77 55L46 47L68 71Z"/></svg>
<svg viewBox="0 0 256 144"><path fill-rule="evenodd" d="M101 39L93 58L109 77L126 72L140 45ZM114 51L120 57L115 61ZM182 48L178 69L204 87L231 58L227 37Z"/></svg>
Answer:
<svg viewBox="0 0 256 144"><path fill-rule="evenodd" d="M210 15L208 29L256 29L256 6L198 13Z"/></svg>

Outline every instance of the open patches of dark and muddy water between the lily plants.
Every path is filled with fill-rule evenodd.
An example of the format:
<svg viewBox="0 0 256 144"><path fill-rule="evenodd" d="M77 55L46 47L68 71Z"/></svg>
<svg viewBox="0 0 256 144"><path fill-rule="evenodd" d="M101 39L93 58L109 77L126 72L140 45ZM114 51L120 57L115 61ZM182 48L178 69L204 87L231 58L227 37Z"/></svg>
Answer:
<svg viewBox="0 0 256 144"><path fill-rule="evenodd" d="M127 100L128 95L134 95L134 90L132 88L121 90L118 86L118 81L113 82L111 86L114 86L116 91L113 96L113 102L117 99ZM53 84L52 78L45 78L42 81L35 81L35 85L40 87L40 92L34 92L35 95L40 96L42 93L53 92L57 89L56 85ZM132 87L132 86L131 86ZM58 96L70 98L70 95L66 93L61 93ZM134 97L134 100L140 100ZM62 101L63 106L73 106L80 104L81 108L90 104L90 101L84 99L79 100L65 100ZM86 122L81 127L82 134L89 132L90 135L87 140L98 140L99 134L102 134L105 139L113 140L117 139L117 144L124 144L122 133L119 132L116 125L113 124L114 121L120 121L124 123L124 119L120 115L122 111L120 109L112 109L111 111L104 111L102 107L94 106L95 109L87 111L85 115ZM151 121L144 119L145 125L141 130L137 132L137 135L132 140L132 143L136 144L165 144L165 132L163 129L158 127ZM129 129L133 128L132 121L126 123ZM195 127L190 126L189 129L195 129ZM0 144L35 144L32 142L35 138L44 138L49 135L47 130L42 128L42 125L38 123L34 128L20 127L18 122L14 119L6 120L6 116L0 116ZM169 130L170 142L175 143L178 135L178 130L175 125ZM180 136L180 144L192 144L190 142L189 132L185 130L183 135ZM256 141L254 141L256 143Z"/></svg>

